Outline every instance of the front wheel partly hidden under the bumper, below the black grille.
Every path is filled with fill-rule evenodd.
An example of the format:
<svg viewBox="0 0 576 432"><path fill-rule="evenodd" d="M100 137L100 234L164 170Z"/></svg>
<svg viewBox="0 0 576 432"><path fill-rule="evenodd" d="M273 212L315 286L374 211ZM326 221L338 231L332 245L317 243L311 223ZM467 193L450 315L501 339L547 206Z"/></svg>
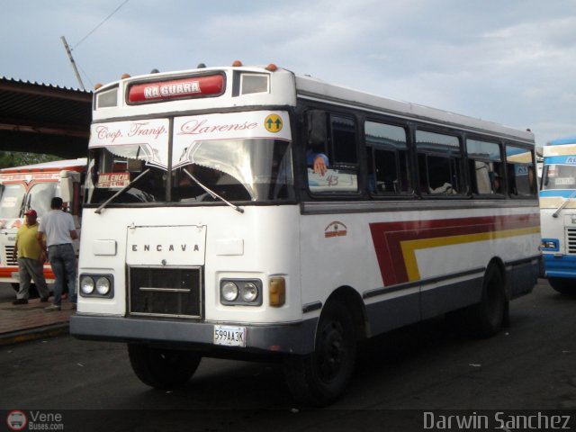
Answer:
<svg viewBox="0 0 576 432"><path fill-rule="evenodd" d="M128 356L139 380L162 390L184 386L202 360L202 356L189 351L138 344L128 344Z"/></svg>

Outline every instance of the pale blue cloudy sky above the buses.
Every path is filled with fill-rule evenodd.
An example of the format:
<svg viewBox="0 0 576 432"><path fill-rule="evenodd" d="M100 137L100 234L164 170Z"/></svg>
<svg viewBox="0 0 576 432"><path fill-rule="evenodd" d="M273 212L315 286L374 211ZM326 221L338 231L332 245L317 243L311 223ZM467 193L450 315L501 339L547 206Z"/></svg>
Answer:
<svg viewBox="0 0 576 432"><path fill-rule="evenodd" d="M60 39L65 36L87 89L124 72L221 66L238 58L530 128L538 145L576 135L575 0L0 5L0 76L78 88Z"/></svg>

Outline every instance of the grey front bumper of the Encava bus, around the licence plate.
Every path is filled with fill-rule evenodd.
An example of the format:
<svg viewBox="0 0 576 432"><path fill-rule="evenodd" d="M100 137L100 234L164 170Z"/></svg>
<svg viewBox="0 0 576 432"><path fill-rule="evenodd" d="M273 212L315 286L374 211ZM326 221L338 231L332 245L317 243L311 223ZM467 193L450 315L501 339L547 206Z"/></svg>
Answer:
<svg viewBox="0 0 576 432"><path fill-rule="evenodd" d="M306 355L314 350L314 333L318 319L282 324L238 324L193 322L184 320L150 320L117 316L76 313L70 317L70 334L78 339L112 342L148 343L190 346L204 351L234 350L247 353L284 353ZM242 347L222 346L214 342L217 326L245 329Z"/></svg>

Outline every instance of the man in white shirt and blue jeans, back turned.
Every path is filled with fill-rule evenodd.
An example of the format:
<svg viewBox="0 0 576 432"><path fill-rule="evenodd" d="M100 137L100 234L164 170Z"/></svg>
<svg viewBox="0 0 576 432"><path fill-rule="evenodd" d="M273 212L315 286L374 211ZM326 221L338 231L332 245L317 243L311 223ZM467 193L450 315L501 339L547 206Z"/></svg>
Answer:
<svg viewBox="0 0 576 432"><path fill-rule="evenodd" d="M50 202L50 211L42 220L37 239L42 253L48 257L56 281L54 302L46 311L59 311L62 303L64 281L68 284L68 299L76 307L76 252L72 240L78 238L72 215L62 211L62 198L55 196ZM46 239L44 239L46 235Z"/></svg>

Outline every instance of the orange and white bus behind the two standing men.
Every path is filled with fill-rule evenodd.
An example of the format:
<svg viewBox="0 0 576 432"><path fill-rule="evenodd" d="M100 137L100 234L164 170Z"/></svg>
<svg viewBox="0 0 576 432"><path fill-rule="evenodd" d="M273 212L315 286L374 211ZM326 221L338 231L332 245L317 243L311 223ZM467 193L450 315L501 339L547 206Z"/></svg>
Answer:
<svg viewBox="0 0 576 432"><path fill-rule="evenodd" d="M85 171L85 157L0 169L0 282L12 284L16 291L19 288L14 240L28 209L35 210L41 219L50 210L51 199L60 196L79 232ZM49 284L54 282L48 263L44 275Z"/></svg>

